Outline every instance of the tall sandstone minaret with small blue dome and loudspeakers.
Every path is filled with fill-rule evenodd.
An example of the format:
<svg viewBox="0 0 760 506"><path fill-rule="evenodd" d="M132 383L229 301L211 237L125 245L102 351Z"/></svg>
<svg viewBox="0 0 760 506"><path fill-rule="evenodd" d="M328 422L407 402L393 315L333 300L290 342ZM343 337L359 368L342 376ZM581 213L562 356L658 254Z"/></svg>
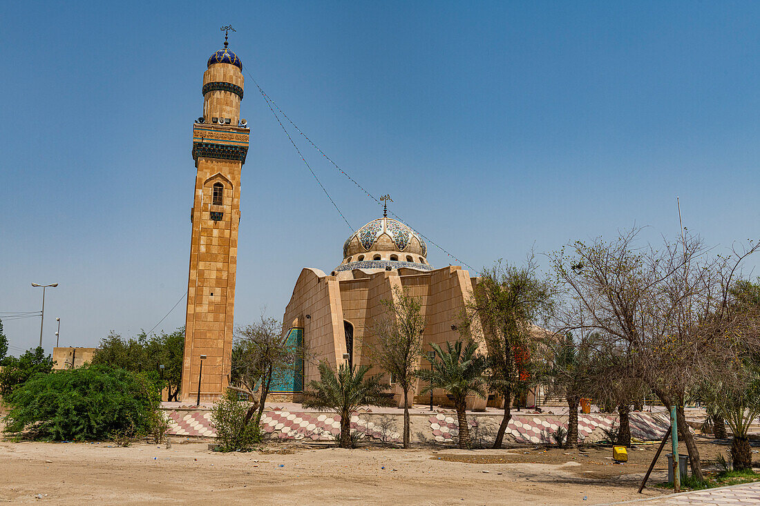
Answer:
<svg viewBox="0 0 760 506"><path fill-rule="evenodd" d="M225 27L230 28L230 27ZM223 28L223 30L225 30ZM249 129L240 122L242 63L227 48L208 59L203 116L193 125L198 169L190 212L190 273L182 364L182 402L217 400L230 381L235 309L240 172ZM201 372L201 356L203 360Z"/></svg>

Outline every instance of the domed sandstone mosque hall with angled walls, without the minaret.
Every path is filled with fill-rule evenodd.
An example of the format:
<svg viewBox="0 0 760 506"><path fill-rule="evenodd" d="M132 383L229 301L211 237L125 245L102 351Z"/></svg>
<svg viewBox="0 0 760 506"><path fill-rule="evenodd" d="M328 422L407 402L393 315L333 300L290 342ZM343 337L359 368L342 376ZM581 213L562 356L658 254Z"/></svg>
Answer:
<svg viewBox="0 0 760 506"><path fill-rule="evenodd" d="M336 368L343 363L371 366L372 324L387 311L382 301L397 299L402 290L422 303L423 350L430 350L430 343L445 346L461 339L457 325L477 278L458 266L436 269L426 255L427 245L413 229L384 216L347 239L343 261L329 275L315 267L301 270L285 309L283 330L290 339L303 340L314 360L299 364L293 381L279 381L273 398L300 400L304 383L319 378L321 360ZM423 359L421 365L426 363ZM417 384L410 400L428 403L429 395L419 392ZM394 394L403 404L401 388L395 387ZM448 403L444 391L436 391L434 397L435 403ZM468 404L482 408L486 400L473 398Z"/></svg>

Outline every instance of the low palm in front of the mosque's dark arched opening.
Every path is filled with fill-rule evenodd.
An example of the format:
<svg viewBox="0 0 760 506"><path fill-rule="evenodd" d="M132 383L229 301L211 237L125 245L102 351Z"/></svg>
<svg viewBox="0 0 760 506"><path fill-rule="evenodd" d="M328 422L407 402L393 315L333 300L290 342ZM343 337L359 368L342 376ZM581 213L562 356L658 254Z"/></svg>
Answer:
<svg viewBox="0 0 760 506"><path fill-rule="evenodd" d="M351 446L351 415L361 406L389 406L392 398L385 395L388 387L380 384L380 376L365 378L366 365L340 365L337 373L328 362L319 362L319 381L309 381L303 407L332 411L340 415L341 448Z"/></svg>

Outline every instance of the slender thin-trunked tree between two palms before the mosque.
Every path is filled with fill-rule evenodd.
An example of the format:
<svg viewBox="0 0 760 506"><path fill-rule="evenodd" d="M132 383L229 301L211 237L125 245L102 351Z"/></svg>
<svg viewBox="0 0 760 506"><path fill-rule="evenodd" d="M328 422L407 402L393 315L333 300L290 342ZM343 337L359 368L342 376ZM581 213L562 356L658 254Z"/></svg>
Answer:
<svg viewBox="0 0 760 506"><path fill-rule="evenodd" d="M404 448L409 447L409 391L423 348L425 318L422 302L402 289L394 289L393 299L382 300L385 315L372 324L375 340L369 346L376 365L391 375L404 391Z"/></svg>

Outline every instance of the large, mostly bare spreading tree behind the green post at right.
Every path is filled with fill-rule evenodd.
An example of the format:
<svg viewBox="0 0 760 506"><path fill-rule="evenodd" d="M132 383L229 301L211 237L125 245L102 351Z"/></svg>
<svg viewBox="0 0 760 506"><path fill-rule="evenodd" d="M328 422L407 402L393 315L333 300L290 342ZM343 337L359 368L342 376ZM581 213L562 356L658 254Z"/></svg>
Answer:
<svg viewBox="0 0 760 506"><path fill-rule="evenodd" d="M701 239L684 235L663 241L659 249L642 248L636 244L638 232L612 242L574 242L571 254L562 249L549 255L567 295L559 327L597 331L608 347L629 346L632 359L643 366L644 383L669 409L676 406L692 473L702 479L683 403L686 391L716 360L739 353L730 336L746 318L730 311L729 288L758 246L711 255Z"/></svg>

